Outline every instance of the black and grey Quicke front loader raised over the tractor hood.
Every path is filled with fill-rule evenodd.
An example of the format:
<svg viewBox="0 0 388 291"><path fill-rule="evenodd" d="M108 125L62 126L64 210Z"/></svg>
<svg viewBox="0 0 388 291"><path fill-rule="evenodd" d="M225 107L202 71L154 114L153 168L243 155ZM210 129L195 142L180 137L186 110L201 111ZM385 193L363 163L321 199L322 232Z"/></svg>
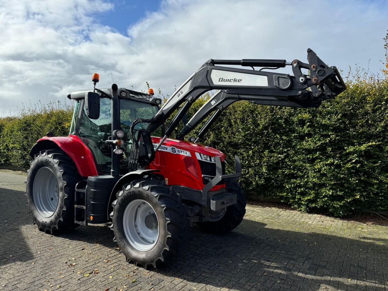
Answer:
<svg viewBox="0 0 388 291"><path fill-rule="evenodd" d="M177 127L194 101L209 90L219 89L221 91L213 95L194 114L178 135L178 139L183 139L187 133L217 109L208 121L206 127L208 128L223 109L238 100L249 100L256 104L272 106L317 107L322 100L333 98L346 89L336 67L327 66L311 49L307 50L307 59L308 63L299 60L286 62L286 60L263 59L210 59L192 74L149 120L147 131L153 132L180 107L155 150L158 150L163 141ZM240 65L252 68L291 66L293 75L217 65ZM310 76L303 74L302 68L310 70Z"/></svg>

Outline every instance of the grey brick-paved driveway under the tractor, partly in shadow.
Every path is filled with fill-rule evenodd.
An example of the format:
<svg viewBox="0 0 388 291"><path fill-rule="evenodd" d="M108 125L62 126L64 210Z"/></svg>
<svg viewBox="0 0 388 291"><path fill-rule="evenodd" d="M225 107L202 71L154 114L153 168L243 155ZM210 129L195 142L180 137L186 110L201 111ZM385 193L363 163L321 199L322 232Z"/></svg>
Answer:
<svg viewBox="0 0 388 291"><path fill-rule="evenodd" d="M193 226L175 262L144 270L118 254L107 225L39 232L24 180L0 170L0 290L388 290L388 227L247 206L231 234Z"/></svg>

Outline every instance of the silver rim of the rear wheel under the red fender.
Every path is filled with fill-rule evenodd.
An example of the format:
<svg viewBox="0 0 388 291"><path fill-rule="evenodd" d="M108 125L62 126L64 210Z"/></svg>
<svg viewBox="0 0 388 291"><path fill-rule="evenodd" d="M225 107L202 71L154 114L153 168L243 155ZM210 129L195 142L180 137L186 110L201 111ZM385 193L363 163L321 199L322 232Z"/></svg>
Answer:
<svg viewBox="0 0 388 291"><path fill-rule="evenodd" d="M50 168L40 168L36 173L33 198L40 215L48 218L54 214L59 202L59 187L57 178Z"/></svg>

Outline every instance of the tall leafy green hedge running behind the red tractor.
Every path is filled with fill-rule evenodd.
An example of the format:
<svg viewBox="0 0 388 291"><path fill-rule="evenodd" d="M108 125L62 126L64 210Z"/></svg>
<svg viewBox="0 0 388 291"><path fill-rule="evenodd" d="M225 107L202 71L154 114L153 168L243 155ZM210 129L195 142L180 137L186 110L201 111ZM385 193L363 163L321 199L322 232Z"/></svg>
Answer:
<svg viewBox="0 0 388 291"><path fill-rule="evenodd" d="M190 114L206 97L197 100ZM40 107L42 108L42 106ZM318 109L230 106L203 144L241 158L249 198L263 194L303 211L343 216L388 210L388 79L348 84ZM68 135L71 108L51 104L0 119L0 163L28 168L28 151L46 132ZM195 133L195 132L194 132Z"/></svg>

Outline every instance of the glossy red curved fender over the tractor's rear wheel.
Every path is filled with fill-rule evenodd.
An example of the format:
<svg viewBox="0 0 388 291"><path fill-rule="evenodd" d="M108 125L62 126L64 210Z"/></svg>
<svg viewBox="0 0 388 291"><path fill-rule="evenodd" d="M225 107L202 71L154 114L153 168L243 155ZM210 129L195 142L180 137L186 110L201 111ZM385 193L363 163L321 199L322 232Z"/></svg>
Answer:
<svg viewBox="0 0 388 291"><path fill-rule="evenodd" d="M76 135L69 135L68 137L42 137L32 147L29 155L33 158L40 151L58 148L66 152L73 160L81 176L98 175L92 152Z"/></svg>

